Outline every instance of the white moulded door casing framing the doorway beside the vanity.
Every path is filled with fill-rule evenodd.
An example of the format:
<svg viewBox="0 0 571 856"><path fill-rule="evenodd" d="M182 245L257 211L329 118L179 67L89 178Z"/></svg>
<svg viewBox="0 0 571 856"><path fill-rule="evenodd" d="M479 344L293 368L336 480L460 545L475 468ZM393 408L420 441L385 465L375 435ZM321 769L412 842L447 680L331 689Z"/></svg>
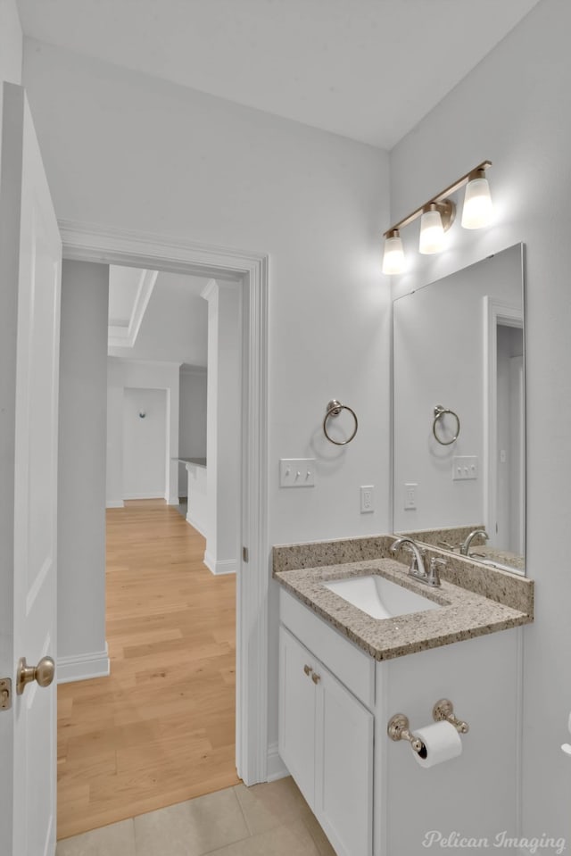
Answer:
<svg viewBox="0 0 571 856"><path fill-rule="evenodd" d="M248 547L250 563L248 575L242 573L241 561L236 573L236 769L248 785L265 781L268 777L265 258L195 245L157 244L156 240L153 243L132 235L102 236L93 229L63 227L62 236L64 258L131 266L145 264L147 268L153 264L158 270L238 280L244 308L240 541ZM166 504L156 511L176 513ZM187 526L183 519L178 520L183 527ZM206 569L204 572L210 573Z"/></svg>

